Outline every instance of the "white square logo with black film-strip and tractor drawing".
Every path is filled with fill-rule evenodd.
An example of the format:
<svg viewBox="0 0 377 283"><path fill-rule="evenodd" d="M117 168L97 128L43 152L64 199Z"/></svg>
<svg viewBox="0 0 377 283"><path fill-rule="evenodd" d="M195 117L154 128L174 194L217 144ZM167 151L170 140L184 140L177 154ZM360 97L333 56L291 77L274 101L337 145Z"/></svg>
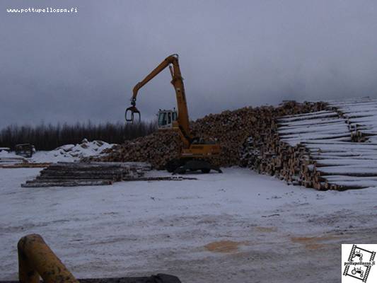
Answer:
<svg viewBox="0 0 377 283"><path fill-rule="evenodd" d="M342 244L342 283L376 282L377 267L374 267L376 250L377 245Z"/></svg>

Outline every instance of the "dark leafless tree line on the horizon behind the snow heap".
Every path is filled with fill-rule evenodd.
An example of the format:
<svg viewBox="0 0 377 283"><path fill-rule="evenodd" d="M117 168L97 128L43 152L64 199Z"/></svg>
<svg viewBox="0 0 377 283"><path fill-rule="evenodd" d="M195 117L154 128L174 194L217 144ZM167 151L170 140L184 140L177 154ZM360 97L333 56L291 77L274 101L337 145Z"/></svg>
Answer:
<svg viewBox="0 0 377 283"><path fill-rule="evenodd" d="M75 125L57 124L37 126L10 125L0 131L0 147L14 149L16 144L33 144L37 150L52 150L64 144L79 144L83 139L101 140L110 144L121 144L128 139L135 139L151 134L156 130L156 122L135 124L105 123L94 125L76 123Z"/></svg>

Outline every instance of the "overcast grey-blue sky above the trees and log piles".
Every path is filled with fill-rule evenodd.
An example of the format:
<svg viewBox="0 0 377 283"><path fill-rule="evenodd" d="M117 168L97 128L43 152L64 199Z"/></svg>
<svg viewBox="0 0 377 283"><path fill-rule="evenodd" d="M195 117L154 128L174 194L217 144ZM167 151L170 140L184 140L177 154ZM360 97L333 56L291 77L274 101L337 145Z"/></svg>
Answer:
<svg viewBox="0 0 377 283"><path fill-rule="evenodd" d="M7 13L6 8L77 8ZM377 98L375 0L0 2L0 127L124 120L180 55L190 117L282 100ZM168 69L141 117L173 108Z"/></svg>

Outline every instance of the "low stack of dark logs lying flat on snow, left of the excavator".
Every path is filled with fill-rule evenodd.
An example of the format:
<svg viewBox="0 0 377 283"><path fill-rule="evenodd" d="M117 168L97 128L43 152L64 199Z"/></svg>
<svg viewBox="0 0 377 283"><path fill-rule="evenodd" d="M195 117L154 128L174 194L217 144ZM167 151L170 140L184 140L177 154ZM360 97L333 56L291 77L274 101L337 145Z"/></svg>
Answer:
<svg viewBox="0 0 377 283"><path fill-rule="evenodd" d="M144 177L151 168L146 163L53 163L43 169L35 180L21 187L71 187L112 185L114 182Z"/></svg>

